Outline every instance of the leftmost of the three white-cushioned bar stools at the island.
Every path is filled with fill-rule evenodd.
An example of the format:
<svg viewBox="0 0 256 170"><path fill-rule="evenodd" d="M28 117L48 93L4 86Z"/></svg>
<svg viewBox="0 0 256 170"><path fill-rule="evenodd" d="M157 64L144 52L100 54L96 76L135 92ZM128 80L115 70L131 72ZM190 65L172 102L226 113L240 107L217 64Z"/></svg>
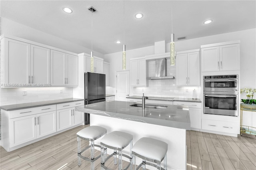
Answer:
<svg viewBox="0 0 256 170"><path fill-rule="evenodd" d="M83 128L82 130L80 130L79 132L76 133L77 135L77 148L78 148L78 166L81 165L81 158L87 161L91 162L91 170L94 170L94 161L97 160L98 158L100 158L100 155L97 156L96 158L94 158L94 146L100 147L100 145L96 145L94 144L94 140L100 138L101 136L103 136L104 134L107 133L107 129L103 128L103 127L99 127L99 126L90 126L90 127L86 127ZM84 139L84 140L89 140L91 142L91 144L87 147L85 147L84 149L81 150L81 144L80 144L80 140ZM82 152L84 152L85 150L89 149L91 150L91 158L86 158L84 156L82 156Z"/></svg>

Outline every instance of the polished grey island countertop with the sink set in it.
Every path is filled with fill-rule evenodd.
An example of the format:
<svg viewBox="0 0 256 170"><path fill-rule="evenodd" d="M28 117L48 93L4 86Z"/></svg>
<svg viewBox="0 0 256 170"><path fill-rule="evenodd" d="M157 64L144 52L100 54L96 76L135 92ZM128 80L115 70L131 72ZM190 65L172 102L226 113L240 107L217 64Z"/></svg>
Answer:
<svg viewBox="0 0 256 170"><path fill-rule="evenodd" d="M110 101L76 107L76 111L190 130L188 106L165 105L166 109L130 106L134 102Z"/></svg>

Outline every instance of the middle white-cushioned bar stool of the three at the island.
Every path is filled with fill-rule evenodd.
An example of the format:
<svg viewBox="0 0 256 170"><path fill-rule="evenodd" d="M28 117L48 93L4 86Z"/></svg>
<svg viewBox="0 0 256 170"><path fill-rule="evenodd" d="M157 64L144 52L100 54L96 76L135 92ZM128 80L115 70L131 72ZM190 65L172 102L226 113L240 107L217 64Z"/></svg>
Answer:
<svg viewBox="0 0 256 170"><path fill-rule="evenodd" d="M100 140L101 146L101 169L109 169L105 166L105 162L114 156L114 164L116 165L116 154L118 154L118 170L122 170L122 149L126 148L130 144L130 156L123 154L124 157L130 159L130 163L124 170L132 168L132 135L126 132L113 131ZM106 157L106 148L114 149L114 153ZM116 153L118 150L118 153ZM106 158L106 159L105 159Z"/></svg>

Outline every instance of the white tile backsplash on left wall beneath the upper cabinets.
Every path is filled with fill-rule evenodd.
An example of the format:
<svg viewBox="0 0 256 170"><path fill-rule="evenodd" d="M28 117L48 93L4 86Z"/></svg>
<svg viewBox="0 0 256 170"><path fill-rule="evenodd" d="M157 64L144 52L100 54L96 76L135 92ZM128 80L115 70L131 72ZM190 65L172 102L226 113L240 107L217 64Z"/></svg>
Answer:
<svg viewBox="0 0 256 170"><path fill-rule="evenodd" d="M23 95L26 91L26 95ZM0 105L14 105L73 97L73 87L0 88Z"/></svg>

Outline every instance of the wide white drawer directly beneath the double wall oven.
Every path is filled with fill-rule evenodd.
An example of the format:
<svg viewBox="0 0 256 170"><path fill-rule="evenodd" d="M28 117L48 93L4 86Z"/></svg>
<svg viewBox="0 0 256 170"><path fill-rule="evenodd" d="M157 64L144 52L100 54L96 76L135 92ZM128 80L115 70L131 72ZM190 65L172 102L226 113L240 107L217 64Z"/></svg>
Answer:
<svg viewBox="0 0 256 170"><path fill-rule="evenodd" d="M239 123L202 119L202 129L239 134Z"/></svg>

